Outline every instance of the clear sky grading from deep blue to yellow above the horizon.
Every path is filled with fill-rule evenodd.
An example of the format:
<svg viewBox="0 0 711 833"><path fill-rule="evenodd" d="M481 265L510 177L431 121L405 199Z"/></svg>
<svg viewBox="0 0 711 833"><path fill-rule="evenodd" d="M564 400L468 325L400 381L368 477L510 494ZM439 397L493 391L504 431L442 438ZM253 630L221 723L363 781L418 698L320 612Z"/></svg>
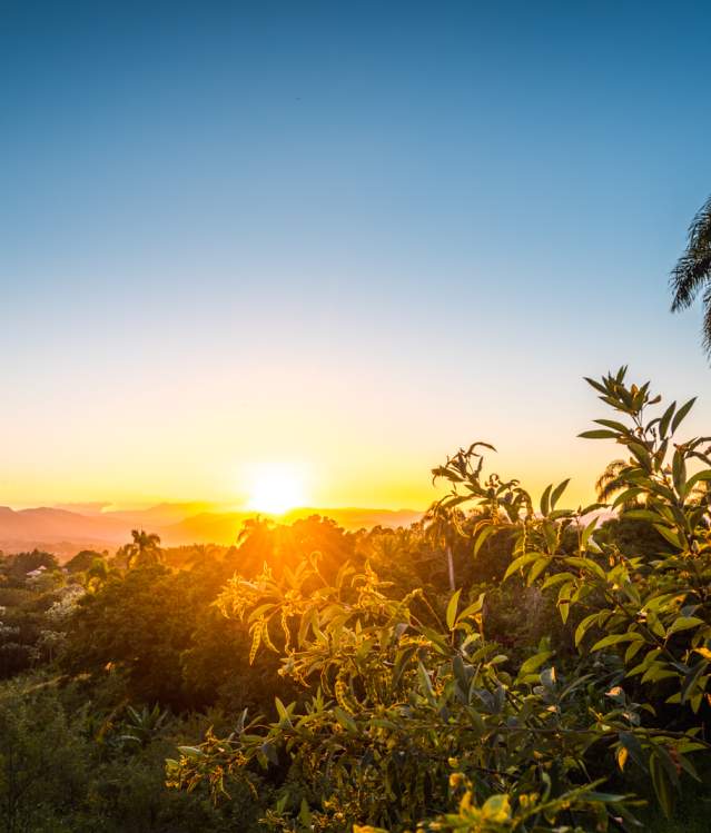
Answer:
<svg viewBox="0 0 711 833"><path fill-rule="evenodd" d="M585 500L622 364L700 400L707 3L0 0L0 503Z"/></svg>

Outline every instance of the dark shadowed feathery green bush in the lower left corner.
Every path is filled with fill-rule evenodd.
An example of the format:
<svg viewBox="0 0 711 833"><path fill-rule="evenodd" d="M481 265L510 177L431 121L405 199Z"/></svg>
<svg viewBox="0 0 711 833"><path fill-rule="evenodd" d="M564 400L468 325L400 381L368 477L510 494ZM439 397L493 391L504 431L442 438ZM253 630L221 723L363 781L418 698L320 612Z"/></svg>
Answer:
<svg viewBox="0 0 711 833"><path fill-rule="evenodd" d="M132 723L129 710L107 714L99 698L56 677L0 685L0 830L256 833L254 802L238 789L231 806L216 809L199 791L177 794L162 785L166 755L179 737L205 732L205 717L166 715L150 737L126 744L121 733Z"/></svg>

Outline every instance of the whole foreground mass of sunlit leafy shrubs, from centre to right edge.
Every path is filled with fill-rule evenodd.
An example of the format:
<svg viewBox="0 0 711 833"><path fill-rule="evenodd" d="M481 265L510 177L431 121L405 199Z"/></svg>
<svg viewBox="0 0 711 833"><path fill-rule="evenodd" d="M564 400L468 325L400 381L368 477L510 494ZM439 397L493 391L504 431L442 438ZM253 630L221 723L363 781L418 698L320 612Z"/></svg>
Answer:
<svg viewBox="0 0 711 833"><path fill-rule="evenodd" d="M472 584L443 605L421 586L393 593L367 563L324 576L317 557L278 577L236 577L219 605L248 624L250 658L264 647L280 654L279 673L308 696L277 700L276 720L243 713L228 736L182 747L169 783L208 784L219 797L225 779L251 784L261 770L279 787L264 823L279 831L632 829L624 786L600 789L614 762L619 783L648 777L670 814L682 776L698 777L691 757L707 748L711 542L699 485L711 479L709 440L674 445L693 403L649 419L659 397L624 376L590 381L631 424L596 420L583 436L625 447L614 506L626 507L625 524L651 527L658 552L623 552L619 527L600 525L600 504L559 508L566 482L535 509L517 480L483 474L487 444L434 470L452 492L431 517L473 538L474 559L505 535L512 553L497 592L515 585L532 594L529 613L557 609L577 654L551 641L553 628L536 647L534 629L520 632L504 653L484 627L491 587L477 597ZM442 554L441 526L418 539L433 527Z"/></svg>

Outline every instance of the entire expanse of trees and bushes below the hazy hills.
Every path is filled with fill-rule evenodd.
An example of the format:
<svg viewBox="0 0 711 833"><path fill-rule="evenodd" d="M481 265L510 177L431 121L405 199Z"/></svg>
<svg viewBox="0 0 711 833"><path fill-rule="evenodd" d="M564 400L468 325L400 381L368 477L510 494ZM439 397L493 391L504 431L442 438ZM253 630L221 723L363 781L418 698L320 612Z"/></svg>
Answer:
<svg viewBox="0 0 711 833"><path fill-rule="evenodd" d="M591 506L477 442L408 528L3 556L0 829L707 830L711 438L587 383Z"/></svg>

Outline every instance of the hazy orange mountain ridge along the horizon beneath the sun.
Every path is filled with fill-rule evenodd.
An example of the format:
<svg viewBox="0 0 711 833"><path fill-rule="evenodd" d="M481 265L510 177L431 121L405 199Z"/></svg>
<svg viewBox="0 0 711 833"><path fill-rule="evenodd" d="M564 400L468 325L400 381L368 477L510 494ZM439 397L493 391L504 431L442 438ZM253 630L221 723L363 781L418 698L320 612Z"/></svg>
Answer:
<svg viewBox="0 0 711 833"><path fill-rule="evenodd" d="M40 506L12 509L0 506L0 551L17 553L34 547L67 555L82 548L113 551L130 539L131 529L140 527L157 533L167 546L181 544L233 544L239 529L254 512L226 512L206 503L159 504L147 509L99 512L100 504L85 504L87 512L66 507ZM287 513L284 523L299 517L323 515L346 529L373 526L409 526L423 513L414 509L298 508Z"/></svg>

